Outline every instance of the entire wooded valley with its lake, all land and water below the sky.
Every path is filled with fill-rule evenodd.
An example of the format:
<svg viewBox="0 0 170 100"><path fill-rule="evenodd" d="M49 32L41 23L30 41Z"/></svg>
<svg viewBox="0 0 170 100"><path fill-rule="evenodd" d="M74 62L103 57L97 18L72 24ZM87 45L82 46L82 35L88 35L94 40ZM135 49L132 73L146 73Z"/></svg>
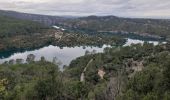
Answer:
<svg viewBox="0 0 170 100"><path fill-rule="evenodd" d="M170 21L0 10L0 100L169 100Z"/></svg>

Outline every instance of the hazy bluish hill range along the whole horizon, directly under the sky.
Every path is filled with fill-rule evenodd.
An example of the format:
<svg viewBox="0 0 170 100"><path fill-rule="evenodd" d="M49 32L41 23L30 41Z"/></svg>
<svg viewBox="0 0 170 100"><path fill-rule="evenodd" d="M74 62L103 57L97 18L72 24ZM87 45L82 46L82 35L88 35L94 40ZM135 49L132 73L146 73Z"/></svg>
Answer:
<svg viewBox="0 0 170 100"><path fill-rule="evenodd" d="M85 32L123 32L135 33L144 36L170 37L170 20L168 19L138 19L121 18L116 16L88 16L88 17L58 17L48 15L37 15L19 13L14 11L0 10L0 15L27 19L40 22L46 25L60 25L73 30L83 30Z"/></svg>

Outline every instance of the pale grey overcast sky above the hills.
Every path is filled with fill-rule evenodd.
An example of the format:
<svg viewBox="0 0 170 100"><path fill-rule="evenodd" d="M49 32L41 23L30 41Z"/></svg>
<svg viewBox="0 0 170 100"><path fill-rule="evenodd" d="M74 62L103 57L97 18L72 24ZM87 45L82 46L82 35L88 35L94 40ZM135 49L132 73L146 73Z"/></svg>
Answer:
<svg viewBox="0 0 170 100"><path fill-rule="evenodd" d="M0 9L57 16L170 18L170 0L0 0Z"/></svg>

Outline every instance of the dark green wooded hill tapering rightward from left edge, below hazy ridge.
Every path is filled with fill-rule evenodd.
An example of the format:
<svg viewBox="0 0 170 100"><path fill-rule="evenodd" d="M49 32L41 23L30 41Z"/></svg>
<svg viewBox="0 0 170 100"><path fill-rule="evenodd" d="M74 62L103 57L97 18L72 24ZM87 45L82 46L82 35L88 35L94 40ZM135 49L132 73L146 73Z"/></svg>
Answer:
<svg viewBox="0 0 170 100"><path fill-rule="evenodd" d="M47 28L45 25L0 15L0 38L16 35L31 35Z"/></svg>

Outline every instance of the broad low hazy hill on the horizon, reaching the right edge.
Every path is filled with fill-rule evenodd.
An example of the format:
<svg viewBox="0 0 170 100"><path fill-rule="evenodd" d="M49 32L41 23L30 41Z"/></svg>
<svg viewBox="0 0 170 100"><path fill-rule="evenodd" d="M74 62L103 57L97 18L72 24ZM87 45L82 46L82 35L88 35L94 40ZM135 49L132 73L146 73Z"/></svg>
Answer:
<svg viewBox="0 0 170 100"><path fill-rule="evenodd" d="M89 16L69 19L59 24L73 29L97 32L133 32L146 35L170 35L170 20L168 19L132 19L115 16Z"/></svg>

